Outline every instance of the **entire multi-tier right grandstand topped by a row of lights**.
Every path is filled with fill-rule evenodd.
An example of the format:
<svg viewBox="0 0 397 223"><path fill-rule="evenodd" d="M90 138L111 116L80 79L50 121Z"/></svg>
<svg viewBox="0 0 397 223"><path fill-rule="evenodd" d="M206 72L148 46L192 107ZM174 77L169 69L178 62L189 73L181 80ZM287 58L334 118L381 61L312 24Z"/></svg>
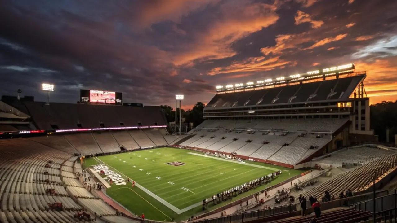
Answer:
<svg viewBox="0 0 397 223"><path fill-rule="evenodd" d="M365 78L352 63L217 86L204 108L206 121L182 145L298 168L337 148L376 140ZM208 137L212 140L204 141ZM285 159L288 154L294 158Z"/></svg>

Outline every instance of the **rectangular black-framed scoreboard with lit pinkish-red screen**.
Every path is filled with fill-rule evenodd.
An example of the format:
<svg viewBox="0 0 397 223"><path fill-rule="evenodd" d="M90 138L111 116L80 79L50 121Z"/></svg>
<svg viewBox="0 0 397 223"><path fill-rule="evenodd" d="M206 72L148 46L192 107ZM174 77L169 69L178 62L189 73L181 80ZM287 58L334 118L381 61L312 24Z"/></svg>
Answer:
<svg viewBox="0 0 397 223"><path fill-rule="evenodd" d="M123 104L123 93L106 90L80 90L80 103L85 104Z"/></svg>

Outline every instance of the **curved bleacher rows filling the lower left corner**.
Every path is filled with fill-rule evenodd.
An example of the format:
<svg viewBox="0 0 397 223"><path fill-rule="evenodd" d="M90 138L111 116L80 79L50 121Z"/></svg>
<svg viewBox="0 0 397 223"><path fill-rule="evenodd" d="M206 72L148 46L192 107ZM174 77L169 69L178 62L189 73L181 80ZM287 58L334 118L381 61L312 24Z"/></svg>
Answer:
<svg viewBox="0 0 397 223"><path fill-rule="evenodd" d="M1 141L0 222L79 222L74 213L83 210L91 211L92 218L96 213L108 222L126 222L85 189L74 174L81 172L77 156L70 148L70 152L61 151L62 141L59 145L51 148L27 138ZM58 202L63 205L61 211L48 206Z"/></svg>

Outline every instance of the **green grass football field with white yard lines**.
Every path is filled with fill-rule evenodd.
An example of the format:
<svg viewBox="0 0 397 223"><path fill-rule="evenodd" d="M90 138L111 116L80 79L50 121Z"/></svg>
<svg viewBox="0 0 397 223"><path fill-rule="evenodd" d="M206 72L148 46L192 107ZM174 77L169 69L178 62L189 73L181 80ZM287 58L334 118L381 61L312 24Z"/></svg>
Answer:
<svg viewBox="0 0 397 223"><path fill-rule="evenodd" d="M103 163L123 177L134 180L143 188L137 185L132 187L131 183L119 186L113 184L107 193L133 213L145 213L146 218L160 221L187 219L202 211L203 199L279 169L283 171L281 177L268 185L241 194L238 198L303 172L264 163L244 164L199 155L201 153L192 150L157 148L89 158L85 165ZM168 164L172 162L178 163ZM211 209L225 204L227 203L223 202Z"/></svg>

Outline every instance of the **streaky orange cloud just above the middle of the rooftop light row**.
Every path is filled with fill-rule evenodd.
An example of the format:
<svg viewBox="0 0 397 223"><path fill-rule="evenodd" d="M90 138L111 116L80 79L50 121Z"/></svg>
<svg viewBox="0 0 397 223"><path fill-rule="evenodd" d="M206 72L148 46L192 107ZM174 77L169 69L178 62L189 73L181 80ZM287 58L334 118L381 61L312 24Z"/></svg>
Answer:
<svg viewBox="0 0 397 223"><path fill-rule="evenodd" d="M249 58L242 62L235 62L228 67L216 67L209 71L207 75L217 75L222 73L270 71L291 62L283 61L279 57L266 59L264 57ZM236 76L237 77L237 76ZM243 76L240 76L243 77Z"/></svg>

